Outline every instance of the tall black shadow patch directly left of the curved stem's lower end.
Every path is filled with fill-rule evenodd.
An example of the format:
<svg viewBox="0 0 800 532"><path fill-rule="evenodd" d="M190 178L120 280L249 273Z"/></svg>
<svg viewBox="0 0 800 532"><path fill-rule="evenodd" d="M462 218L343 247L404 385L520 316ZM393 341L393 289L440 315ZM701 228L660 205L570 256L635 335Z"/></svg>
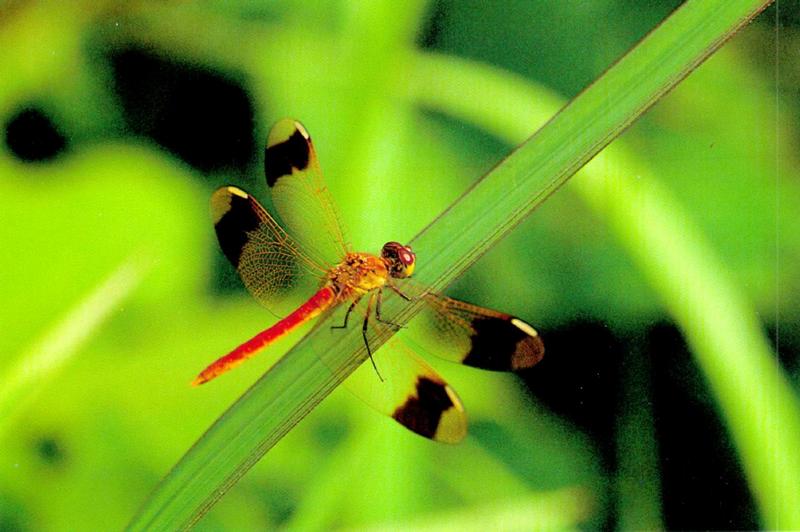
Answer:
<svg viewBox="0 0 800 532"><path fill-rule="evenodd" d="M672 530L755 530L755 503L714 397L680 332L649 331L665 524Z"/></svg>

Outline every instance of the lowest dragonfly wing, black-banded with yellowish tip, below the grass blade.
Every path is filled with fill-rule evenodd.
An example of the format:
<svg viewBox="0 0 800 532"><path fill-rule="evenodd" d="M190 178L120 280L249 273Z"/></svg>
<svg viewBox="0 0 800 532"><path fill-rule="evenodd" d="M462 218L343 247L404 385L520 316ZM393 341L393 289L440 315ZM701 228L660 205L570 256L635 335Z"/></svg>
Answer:
<svg viewBox="0 0 800 532"><path fill-rule="evenodd" d="M378 412L417 434L458 443L467 434L461 400L436 371L409 348L391 340L344 381L345 387Z"/></svg>

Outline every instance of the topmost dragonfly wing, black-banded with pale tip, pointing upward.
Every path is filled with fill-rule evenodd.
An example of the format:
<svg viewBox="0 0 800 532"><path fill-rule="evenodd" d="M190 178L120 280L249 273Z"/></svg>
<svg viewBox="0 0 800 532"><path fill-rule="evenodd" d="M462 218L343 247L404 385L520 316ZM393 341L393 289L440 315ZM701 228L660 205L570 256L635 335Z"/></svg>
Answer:
<svg viewBox="0 0 800 532"><path fill-rule="evenodd" d="M284 118L273 126L264 173L278 214L303 249L328 264L341 261L349 251L345 234L314 144L300 122Z"/></svg>

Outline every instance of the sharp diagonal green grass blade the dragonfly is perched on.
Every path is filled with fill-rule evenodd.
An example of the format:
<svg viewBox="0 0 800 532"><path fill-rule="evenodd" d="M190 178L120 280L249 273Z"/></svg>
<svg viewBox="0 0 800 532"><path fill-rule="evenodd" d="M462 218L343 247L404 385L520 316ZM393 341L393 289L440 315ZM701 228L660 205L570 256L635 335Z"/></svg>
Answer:
<svg viewBox="0 0 800 532"><path fill-rule="evenodd" d="M685 4L414 240L418 256L427 259L419 277L437 288L452 281L764 5ZM596 120L587 124L587 116ZM416 309L403 308L398 299L385 301L384 308L403 323ZM187 452L131 529L197 522L363 361L360 331L353 328L339 340L334 343L325 323L306 336ZM373 345L385 340L374 338Z"/></svg>

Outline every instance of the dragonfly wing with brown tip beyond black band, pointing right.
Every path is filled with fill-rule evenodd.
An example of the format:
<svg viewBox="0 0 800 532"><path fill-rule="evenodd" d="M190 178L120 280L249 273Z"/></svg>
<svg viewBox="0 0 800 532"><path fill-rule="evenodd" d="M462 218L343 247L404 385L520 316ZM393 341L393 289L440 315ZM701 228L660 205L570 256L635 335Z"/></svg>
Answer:
<svg viewBox="0 0 800 532"><path fill-rule="evenodd" d="M529 368L544 356L536 329L520 318L442 295L409 324L414 342L440 358L493 371Z"/></svg>

